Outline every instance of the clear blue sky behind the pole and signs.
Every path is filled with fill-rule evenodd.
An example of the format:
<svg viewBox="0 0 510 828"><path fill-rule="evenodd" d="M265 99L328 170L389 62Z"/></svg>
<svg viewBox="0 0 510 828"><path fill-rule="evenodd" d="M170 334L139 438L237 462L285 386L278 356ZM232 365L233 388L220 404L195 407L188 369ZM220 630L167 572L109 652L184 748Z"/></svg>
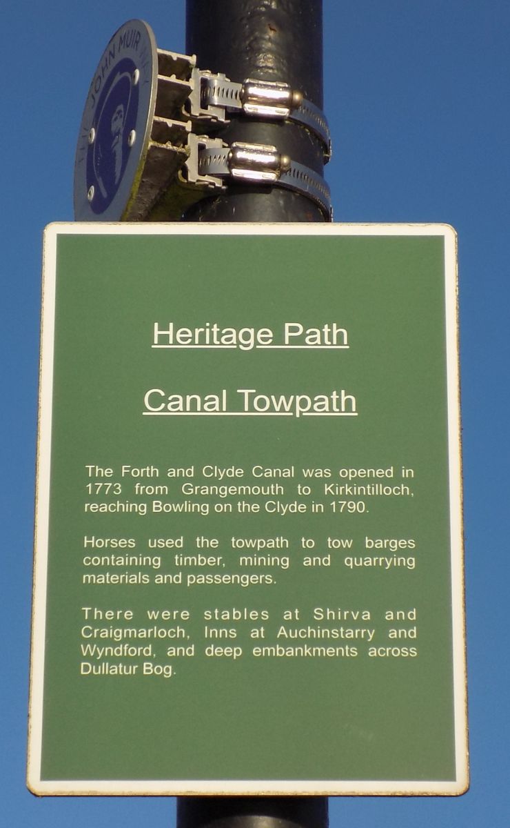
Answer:
<svg viewBox="0 0 510 828"><path fill-rule="evenodd" d="M73 219L88 84L141 17L184 51L184 0L18 0L3 10L2 782L5 824L171 826L168 798L26 791L41 233ZM508 30L503 0L324 0L326 168L337 221L459 233L471 788L460 798L339 797L331 826L508 825ZM505 427L506 426L506 427Z"/></svg>

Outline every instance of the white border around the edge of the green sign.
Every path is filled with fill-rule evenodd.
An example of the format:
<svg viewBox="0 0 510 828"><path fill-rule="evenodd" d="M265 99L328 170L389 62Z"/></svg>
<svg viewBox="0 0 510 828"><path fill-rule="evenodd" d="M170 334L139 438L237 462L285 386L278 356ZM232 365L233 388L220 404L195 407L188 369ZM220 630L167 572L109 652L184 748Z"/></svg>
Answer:
<svg viewBox="0 0 510 828"><path fill-rule="evenodd" d="M441 236L445 239L446 368L450 468L450 547L455 710L454 781L412 780L41 780L45 662L46 572L50 510L50 452L55 334L56 250L60 235L280 235L280 236ZM39 436L37 444L34 599L27 786L39 796L456 796L469 787L465 667L464 552L460 454L460 385L457 313L457 237L448 224L222 224L222 223L55 223L45 229Z"/></svg>

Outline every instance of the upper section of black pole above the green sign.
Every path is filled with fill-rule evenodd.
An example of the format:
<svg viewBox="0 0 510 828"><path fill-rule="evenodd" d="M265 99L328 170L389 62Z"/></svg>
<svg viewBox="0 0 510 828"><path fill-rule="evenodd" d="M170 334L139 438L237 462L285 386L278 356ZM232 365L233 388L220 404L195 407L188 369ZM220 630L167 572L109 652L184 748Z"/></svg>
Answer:
<svg viewBox="0 0 510 828"><path fill-rule="evenodd" d="M284 81L322 108L322 0L187 0L186 51L201 69L247 78ZM290 122L231 118L215 135L273 144L322 175L318 138ZM306 196L274 186L229 185L222 195L199 201L187 221L324 221Z"/></svg>

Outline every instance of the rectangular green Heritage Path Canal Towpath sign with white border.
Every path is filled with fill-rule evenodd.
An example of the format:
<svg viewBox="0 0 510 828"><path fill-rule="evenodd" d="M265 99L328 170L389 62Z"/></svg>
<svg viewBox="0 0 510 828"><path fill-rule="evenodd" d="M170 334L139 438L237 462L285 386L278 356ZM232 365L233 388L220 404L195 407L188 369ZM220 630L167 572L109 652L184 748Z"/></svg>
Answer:
<svg viewBox="0 0 510 828"><path fill-rule="evenodd" d="M29 786L467 786L455 233L45 235Z"/></svg>

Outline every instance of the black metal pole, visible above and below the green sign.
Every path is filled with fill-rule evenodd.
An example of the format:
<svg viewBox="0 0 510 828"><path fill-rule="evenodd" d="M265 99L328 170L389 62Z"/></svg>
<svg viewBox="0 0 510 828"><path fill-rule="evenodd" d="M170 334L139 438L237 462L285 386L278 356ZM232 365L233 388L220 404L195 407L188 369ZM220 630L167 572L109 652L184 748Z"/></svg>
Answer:
<svg viewBox="0 0 510 828"><path fill-rule="evenodd" d="M284 81L322 108L322 0L187 0L186 51L201 69ZM322 175L323 148L295 123L232 116L219 134L232 141L274 144L293 161ZM229 185L203 199L188 221L324 221L305 195ZM247 745L246 749L250 749ZM268 745L270 749L270 745ZM327 828L326 797L179 797L177 828Z"/></svg>

